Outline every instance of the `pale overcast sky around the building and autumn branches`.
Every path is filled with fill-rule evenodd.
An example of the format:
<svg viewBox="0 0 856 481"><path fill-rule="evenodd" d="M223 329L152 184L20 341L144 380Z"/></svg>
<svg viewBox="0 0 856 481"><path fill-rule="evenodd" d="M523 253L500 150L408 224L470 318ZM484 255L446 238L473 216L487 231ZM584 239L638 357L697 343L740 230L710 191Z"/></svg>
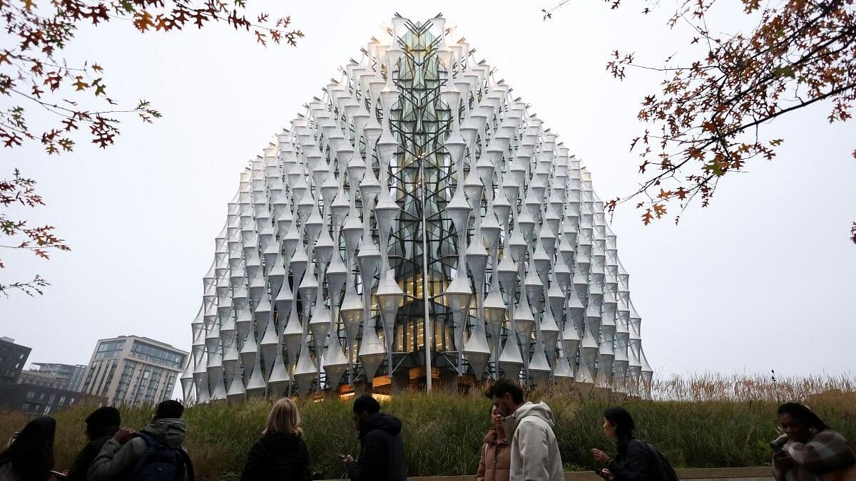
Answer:
<svg viewBox="0 0 856 481"><path fill-rule="evenodd" d="M528 1L248 3L292 15L306 39L297 49L265 49L225 26L146 35L121 21L84 27L67 57L97 60L112 98L147 98L163 119L128 119L107 150L80 137L62 157L35 145L0 151L0 178L17 167L39 181L48 205L27 216L55 225L73 249L50 261L3 252L0 282L40 273L52 283L41 297L0 300L0 336L33 347L31 361L86 364L98 338L131 334L189 350L201 278L241 169L338 77L338 66L360 58L395 11L414 21L443 12L455 39L467 37L584 159L601 199L640 180L627 146L644 129L639 100L661 80L639 70L613 80L604 71L609 52L636 50L639 61L657 63L683 45L663 15L639 15L629 1L618 11L571 2L546 22L539 9L550 3ZM732 3L722 25L742 17ZM712 205L689 209L679 226L644 227L632 206L615 216L655 371L856 367L856 245L847 239L856 135L852 122L829 126L828 109L765 126L769 138L785 139L776 159L728 175ZM39 116L33 109L33 122Z"/></svg>

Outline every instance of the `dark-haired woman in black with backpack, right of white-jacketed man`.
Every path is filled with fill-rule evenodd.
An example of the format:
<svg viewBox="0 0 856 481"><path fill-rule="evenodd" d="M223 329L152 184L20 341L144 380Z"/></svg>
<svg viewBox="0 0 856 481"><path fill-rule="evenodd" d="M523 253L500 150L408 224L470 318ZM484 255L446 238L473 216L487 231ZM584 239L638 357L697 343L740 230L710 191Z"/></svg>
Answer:
<svg viewBox="0 0 856 481"><path fill-rule="evenodd" d="M661 478L653 459L656 454L645 442L633 437L636 424L623 407L610 407L603 413L603 432L615 442L618 454L615 459L600 449L591 449L594 459L606 463L598 472L610 481L655 481Z"/></svg>

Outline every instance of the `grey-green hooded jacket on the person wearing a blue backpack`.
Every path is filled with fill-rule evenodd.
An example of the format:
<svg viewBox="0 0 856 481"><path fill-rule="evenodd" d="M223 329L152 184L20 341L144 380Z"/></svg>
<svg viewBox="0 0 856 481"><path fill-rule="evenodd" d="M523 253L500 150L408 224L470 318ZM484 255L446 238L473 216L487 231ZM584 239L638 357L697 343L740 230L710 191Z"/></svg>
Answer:
<svg viewBox="0 0 856 481"><path fill-rule="evenodd" d="M142 432L154 436L158 441L172 448L184 448L184 436L187 434L187 423L184 419L156 419L146 425ZM125 481L137 461L146 454L146 440L134 437L125 444L120 444L110 438L104 443L104 448L89 466L88 481Z"/></svg>

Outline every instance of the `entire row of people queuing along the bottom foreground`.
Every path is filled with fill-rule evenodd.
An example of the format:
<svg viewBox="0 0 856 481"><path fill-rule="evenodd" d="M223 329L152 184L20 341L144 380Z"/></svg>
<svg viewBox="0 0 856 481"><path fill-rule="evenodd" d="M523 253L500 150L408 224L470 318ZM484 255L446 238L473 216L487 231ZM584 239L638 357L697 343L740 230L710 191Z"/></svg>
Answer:
<svg viewBox="0 0 856 481"><path fill-rule="evenodd" d="M526 401L520 385L499 379L485 392L490 430L484 436L477 481L559 481L562 455L550 407ZM114 407L99 407L86 418L88 442L67 472L54 470L56 421L33 419L0 453L0 481L193 481L193 463L184 447L187 423L178 401L158 404L152 421L135 431L120 428ZM354 429L360 454L338 454L352 481L404 481L407 476L401 420L381 413L371 395L354 401ZM856 448L832 431L811 409L798 403L779 407L782 436L770 443L776 481L856 481ZM662 454L633 436L633 417L622 407L603 413L603 432L615 442L615 456L598 448L591 454L606 481L676 481ZM303 441L300 413L283 398L270 409L265 430L247 454L241 481L308 481L310 453Z"/></svg>

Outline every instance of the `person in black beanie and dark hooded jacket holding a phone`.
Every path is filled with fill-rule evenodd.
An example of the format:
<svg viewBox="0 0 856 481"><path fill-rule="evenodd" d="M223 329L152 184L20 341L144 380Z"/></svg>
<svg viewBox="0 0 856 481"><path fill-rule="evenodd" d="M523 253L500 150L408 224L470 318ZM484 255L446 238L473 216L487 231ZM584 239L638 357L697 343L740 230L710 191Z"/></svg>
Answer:
<svg viewBox="0 0 856 481"><path fill-rule="evenodd" d="M401 420L380 413L380 403L371 395L354 401L354 428L359 432L360 457L350 454L342 460L351 481L404 481L404 442Z"/></svg>

